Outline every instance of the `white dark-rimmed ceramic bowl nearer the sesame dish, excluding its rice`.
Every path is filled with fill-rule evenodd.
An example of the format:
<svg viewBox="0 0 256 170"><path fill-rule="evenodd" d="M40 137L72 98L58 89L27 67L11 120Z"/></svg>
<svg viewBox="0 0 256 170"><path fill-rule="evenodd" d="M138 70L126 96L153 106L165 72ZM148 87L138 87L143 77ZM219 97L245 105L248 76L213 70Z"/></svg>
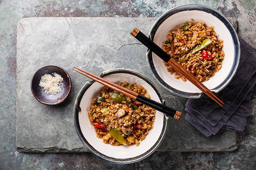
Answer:
<svg viewBox="0 0 256 170"><path fill-rule="evenodd" d="M164 103L164 97L159 88L146 76L136 71L115 69L105 71L101 76L115 83L136 82L147 89L151 99ZM89 110L91 100L96 97L102 87L104 86L100 83L87 82L77 96L74 107L75 126L81 141L94 155L114 163L133 163L152 154L162 142L167 130L167 117L159 111L156 111L154 128L149 131L146 139L141 141L139 146L112 146L103 143L102 139L96 137L96 132L93 125L90 124L86 111Z"/></svg>

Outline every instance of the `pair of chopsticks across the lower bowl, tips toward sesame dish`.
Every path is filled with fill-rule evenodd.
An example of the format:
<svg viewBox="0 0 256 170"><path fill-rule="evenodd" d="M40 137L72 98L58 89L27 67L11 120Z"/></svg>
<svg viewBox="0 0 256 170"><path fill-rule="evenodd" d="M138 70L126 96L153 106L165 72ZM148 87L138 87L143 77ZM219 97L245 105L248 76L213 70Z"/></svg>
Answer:
<svg viewBox="0 0 256 170"><path fill-rule="evenodd" d="M140 103L143 103L145 105L147 105L148 107L154 108L160 112L166 113L168 116L174 117L175 119L179 120L181 112L179 111L175 111L175 109L172 109L170 107L167 107L166 105L163 105L162 103L158 103L154 100L148 99L145 96L142 96L140 94L137 94L134 91L131 91L125 87L119 86L118 84L115 84L113 82L110 82L109 80L106 80L100 76L94 75L92 73L89 73L88 71L79 69L77 67L75 67L75 69L73 69L75 71L77 71L78 73L87 76L90 79L95 80L98 83L103 84L106 87L112 88L112 90L118 91L121 94L130 97L133 100L137 100Z"/></svg>

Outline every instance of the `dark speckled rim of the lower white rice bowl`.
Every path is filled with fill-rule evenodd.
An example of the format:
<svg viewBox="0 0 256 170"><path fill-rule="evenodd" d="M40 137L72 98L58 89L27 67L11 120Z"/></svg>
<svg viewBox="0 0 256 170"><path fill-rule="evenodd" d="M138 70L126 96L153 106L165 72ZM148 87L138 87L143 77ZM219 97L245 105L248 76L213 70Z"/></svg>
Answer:
<svg viewBox="0 0 256 170"><path fill-rule="evenodd" d="M148 79L145 75L138 73L137 71L134 70L129 70L129 69L112 69L112 70L107 70L104 71L100 76L107 76L110 74L116 74L116 73L126 73L126 74L131 74L131 75L135 75L138 76L138 78L143 79L145 82L147 82L148 84L150 84L150 86L155 90L156 94L158 95L160 101L162 101L163 104L165 104L165 99L164 96L162 94L162 92L159 90L159 88L156 86L155 83L153 83L150 79ZM150 150L148 150L147 152L144 152L144 154L136 156L134 158L129 158L129 159L117 159L117 158L112 158L110 156L106 156L104 154L101 154L100 152L98 152L94 147L92 147L88 141L86 141L84 135L82 134L80 125L79 125L79 112L80 112L80 102L82 99L82 96L84 95L85 91L92 86L92 84L95 81L92 80L90 82L86 82L85 85L81 88L76 101L75 101L75 105L74 105L74 109L73 112L75 114L75 128L77 131L77 135L79 135L80 140L82 141L82 143L84 143L84 145L89 149L90 152L92 152L92 154L98 156L101 159L107 160L109 162L112 163L117 163L117 164L130 164L130 163L134 163L134 162L138 162L144 158L147 158L147 156L151 155L162 143L165 135L166 135L166 131L167 131L167 125L168 125L168 117L166 115L164 115L164 122L163 122L163 129L162 132L160 134L160 137L158 138L158 141L155 143L154 146L152 146L150 148Z"/></svg>

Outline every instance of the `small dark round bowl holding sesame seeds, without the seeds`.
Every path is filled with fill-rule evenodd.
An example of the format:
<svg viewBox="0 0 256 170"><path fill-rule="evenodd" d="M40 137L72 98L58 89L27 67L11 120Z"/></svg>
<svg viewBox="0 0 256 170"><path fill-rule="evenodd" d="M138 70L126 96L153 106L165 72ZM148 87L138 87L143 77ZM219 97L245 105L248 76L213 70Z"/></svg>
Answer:
<svg viewBox="0 0 256 170"><path fill-rule="evenodd" d="M44 88L39 86L41 77L44 74L57 73L63 78L63 86L61 86L61 92L58 92L56 95L46 94ZM71 91L71 78L67 71L59 66L43 66L32 76L31 79L31 91L35 96L36 100L40 101L43 104L47 105L57 105L63 102Z"/></svg>

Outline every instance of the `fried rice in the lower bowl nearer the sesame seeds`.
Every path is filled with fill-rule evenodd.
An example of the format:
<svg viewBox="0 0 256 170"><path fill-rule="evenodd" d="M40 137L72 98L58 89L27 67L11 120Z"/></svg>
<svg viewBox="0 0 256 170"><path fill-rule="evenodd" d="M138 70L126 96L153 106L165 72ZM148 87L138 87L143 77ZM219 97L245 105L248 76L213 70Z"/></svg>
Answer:
<svg viewBox="0 0 256 170"><path fill-rule="evenodd" d="M118 84L150 98L147 90L137 83ZM148 131L154 128L155 109L133 101L130 97L126 97L126 101L115 103L112 98L113 93L122 95L108 87L101 88L100 94L92 100L92 105L87 111L90 123L94 125L97 137L106 144L139 146L139 141L145 139ZM134 104L138 109L133 107ZM122 135L124 143L112 136L110 132L113 129Z"/></svg>

